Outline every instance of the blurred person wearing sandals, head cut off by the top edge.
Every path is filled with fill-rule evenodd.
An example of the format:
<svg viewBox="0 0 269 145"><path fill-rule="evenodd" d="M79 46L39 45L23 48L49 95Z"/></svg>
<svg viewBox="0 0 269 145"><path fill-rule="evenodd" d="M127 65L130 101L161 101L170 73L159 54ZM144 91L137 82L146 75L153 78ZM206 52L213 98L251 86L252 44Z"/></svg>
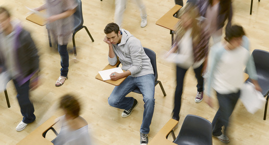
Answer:
<svg viewBox="0 0 269 145"><path fill-rule="evenodd" d="M68 79L69 54L67 45L74 31L74 16L78 4L76 0L46 0L46 3L37 11L47 9L47 29L52 33L53 39L61 56L61 73L55 83L56 87L63 85Z"/></svg>

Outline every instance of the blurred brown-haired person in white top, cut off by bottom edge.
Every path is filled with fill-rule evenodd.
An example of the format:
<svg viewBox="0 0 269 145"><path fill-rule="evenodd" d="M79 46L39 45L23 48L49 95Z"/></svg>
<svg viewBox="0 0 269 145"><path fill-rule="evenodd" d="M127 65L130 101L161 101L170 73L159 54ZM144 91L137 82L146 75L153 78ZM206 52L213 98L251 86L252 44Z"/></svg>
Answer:
<svg viewBox="0 0 269 145"><path fill-rule="evenodd" d="M62 109L64 115L59 117L59 124L61 130L57 137L51 142L57 144L77 144L77 145L90 145L88 132L88 123L80 115L81 105L76 96L72 94L63 95L60 98L59 108ZM58 120L56 119L56 120Z"/></svg>

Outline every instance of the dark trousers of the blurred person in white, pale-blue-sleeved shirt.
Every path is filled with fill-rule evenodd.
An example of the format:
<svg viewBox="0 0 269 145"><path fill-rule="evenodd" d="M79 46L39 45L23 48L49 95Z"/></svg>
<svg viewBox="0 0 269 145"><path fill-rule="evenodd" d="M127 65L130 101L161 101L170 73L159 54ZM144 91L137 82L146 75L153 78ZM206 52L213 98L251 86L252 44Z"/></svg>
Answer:
<svg viewBox="0 0 269 145"><path fill-rule="evenodd" d="M219 101L219 110L217 111L213 121L212 127L214 136L220 136L222 134L221 128L224 126L224 134L227 135L227 127L229 125L229 117L236 106L240 97L240 90L237 93L220 94L217 92Z"/></svg>

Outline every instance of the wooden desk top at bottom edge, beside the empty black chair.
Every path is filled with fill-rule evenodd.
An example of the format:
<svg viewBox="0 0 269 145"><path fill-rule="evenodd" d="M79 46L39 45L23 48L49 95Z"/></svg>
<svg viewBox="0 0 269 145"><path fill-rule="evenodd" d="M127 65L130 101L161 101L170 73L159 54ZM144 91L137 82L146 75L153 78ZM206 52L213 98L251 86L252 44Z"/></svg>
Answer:
<svg viewBox="0 0 269 145"><path fill-rule="evenodd" d="M175 145L170 140L166 139L166 136L172 131L172 129L178 124L178 121L170 119L161 130L150 140L148 145Z"/></svg>

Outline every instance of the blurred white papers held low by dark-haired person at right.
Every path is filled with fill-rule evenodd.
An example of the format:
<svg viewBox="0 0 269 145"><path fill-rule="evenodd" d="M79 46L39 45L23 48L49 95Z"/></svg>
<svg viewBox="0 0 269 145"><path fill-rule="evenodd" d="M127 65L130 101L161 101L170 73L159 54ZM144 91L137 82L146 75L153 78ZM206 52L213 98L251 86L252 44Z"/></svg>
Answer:
<svg viewBox="0 0 269 145"><path fill-rule="evenodd" d="M263 108L266 102L261 92L257 91L255 86L250 82L243 85L240 93L240 99L247 111L251 114L254 114L259 109Z"/></svg>

